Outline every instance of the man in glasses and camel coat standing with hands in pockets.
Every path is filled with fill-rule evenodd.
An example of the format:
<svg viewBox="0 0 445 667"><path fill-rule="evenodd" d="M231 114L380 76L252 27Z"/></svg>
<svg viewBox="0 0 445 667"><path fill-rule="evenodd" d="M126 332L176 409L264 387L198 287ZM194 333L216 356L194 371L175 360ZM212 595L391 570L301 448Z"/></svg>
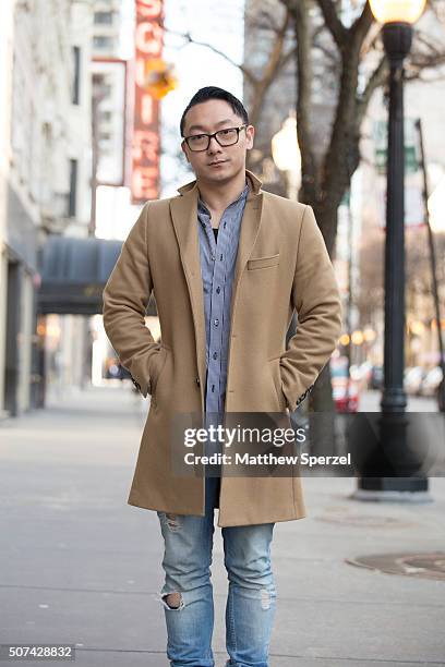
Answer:
<svg viewBox="0 0 445 667"><path fill-rule="evenodd" d="M300 478L175 476L170 425L178 413L293 411L337 342L339 294L311 207L263 192L246 171L254 128L243 105L202 88L180 130L196 180L144 206L104 292L108 337L152 397L128 502L159 518L171 666L215 665L209 566L218 508L226 665L267 667L273 529L305 516ZM152 290L161 343L144 323ZM294 310L298 329L285 349Z"/></svg>

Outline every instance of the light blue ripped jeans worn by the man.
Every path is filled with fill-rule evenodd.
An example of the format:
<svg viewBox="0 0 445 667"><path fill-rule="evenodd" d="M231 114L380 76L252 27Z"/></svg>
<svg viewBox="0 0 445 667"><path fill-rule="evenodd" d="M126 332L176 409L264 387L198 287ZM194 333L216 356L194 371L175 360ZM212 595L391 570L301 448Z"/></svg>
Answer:
<svg viewBox="0 0 445 667"><path fill-rule="evenodd" d="M206 477L205 517L157 512L165 541L165 584L158 598L167 624L171 667L214 667L211 582L214 510L219 477ZM226 667L268 667L276 590L270 567L274 523L222 527L229 580ZM172 594L172 595L171 595Z"/></svg>

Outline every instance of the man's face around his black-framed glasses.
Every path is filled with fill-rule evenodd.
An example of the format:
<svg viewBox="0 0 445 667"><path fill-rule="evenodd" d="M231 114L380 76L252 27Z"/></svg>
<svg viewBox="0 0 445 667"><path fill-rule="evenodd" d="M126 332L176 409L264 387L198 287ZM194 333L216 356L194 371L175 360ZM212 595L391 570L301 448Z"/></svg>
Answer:
<svg viewBox="0 0 445 667"><path fill-rule="evenodd" d="M233 113L227 101L209 99L187 112L184 136L213 134L242 124L242 118ZM207 150L193 151L184 141L181 147L197 179L215 184L226 183L245 170L245 151L253 146L253 126L248 125L240 130L238 142L231 146L220 146L213 137Z"/></svg>

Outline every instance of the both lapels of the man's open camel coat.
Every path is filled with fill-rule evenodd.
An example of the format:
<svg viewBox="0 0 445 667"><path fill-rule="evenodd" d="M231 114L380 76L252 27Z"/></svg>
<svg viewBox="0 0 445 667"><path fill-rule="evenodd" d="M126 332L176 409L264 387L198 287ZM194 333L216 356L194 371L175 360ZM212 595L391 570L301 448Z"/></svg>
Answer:
<svg viewBox="0 0 445 667"><path fill-rule="evenodd" d="M234 266L231 294L231 324L237 302L239 281L252 253L261 223L263 193L262 182L251 171L245 171L250 181L250 193L241 221L240 240ZM206 329L204 315L203 281L201 276L200 239L197 233L197 182L192 181L178 192L182 195L170 201L171 218L178 239L181 263L189 288L190 303L195 328L196 355L201 383L205 383Z"/></svg>

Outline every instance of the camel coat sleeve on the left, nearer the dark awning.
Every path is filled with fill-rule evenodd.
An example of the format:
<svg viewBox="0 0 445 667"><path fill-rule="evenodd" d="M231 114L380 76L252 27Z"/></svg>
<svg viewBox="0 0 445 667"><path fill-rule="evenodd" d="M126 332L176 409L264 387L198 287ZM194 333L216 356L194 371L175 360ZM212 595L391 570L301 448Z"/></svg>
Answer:
<svg viewBox="0 0 445 667"><path fill-rule="evenodd" d="M153 290L147 244L148 205L145 204L123 243L105 286L103 310L107 336L144 397L151 391L149 362L160 348L144 318Z"/></svg>

